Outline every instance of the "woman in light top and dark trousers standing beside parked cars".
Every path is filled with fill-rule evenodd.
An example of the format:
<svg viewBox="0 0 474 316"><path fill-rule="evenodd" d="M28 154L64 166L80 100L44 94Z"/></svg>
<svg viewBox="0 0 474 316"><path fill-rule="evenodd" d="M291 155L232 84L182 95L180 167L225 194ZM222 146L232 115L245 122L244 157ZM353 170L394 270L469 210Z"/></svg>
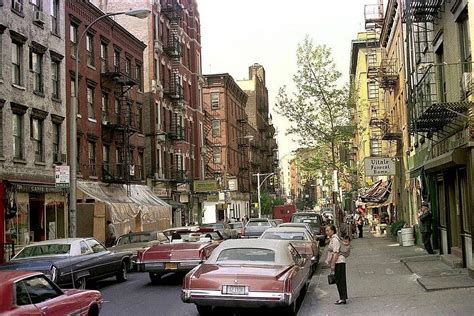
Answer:
<svg viewBox="0 0 474 316"><path fill-rule="evenodd" d="M335 275L337 291L339 292L339 300L334 304L346 304L346 258L341 254L341 240L339 236L337 236L336 226L326 226L326 235L329 238L326 264L331 267L331 273Z"/></svg>

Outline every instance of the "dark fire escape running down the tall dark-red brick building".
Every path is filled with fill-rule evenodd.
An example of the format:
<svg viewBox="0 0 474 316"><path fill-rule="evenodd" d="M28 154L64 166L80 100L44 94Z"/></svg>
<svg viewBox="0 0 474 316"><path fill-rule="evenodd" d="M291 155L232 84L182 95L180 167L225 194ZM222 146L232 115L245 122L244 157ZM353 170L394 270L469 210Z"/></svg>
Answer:
<svg viewBox="0 0 474 316"><path fill-rule="evenodd" d="M168 40L163 51L171 61L171 72L165 83L164 96L172 105L172 114L169 126L167 126L167 139L172 144L185 140L184 127L184 90L180 74L181 57L183 54L181 40L179 37L180 23L182 20L183 8L177 0L172 0L163 6L163 14L169 20ZM168 178L173 182L185 182L186 172L184 170L183 156L176 155L171 163L171 168L167 170Z"/></svg>

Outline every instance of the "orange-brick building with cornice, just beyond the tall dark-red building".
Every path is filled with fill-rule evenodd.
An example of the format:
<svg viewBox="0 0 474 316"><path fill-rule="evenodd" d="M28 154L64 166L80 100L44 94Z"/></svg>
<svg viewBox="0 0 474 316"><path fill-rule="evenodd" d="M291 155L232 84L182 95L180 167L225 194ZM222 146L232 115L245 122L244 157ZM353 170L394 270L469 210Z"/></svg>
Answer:
<svg viewBox="0 0 474 316"><path fill-rule="evenodd" d="M204 222L249 214L250 173L247 94L229 74L205 75L203 108L206 179L218 179L221 201L204 202ZM229 191L229 192L226 192ZM225 204L225 208L217 207Z"/></svg>

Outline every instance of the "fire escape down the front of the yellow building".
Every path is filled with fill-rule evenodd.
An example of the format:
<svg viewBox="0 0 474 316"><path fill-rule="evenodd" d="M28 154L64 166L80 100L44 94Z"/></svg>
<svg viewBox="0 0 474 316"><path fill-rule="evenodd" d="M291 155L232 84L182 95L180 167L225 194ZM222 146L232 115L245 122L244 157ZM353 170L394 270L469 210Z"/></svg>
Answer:
<svg viewBox="0 0 474 316"><path fill-rule="evenodd" d="M367 99L370 118L370 154L382 155L382 135L386 125L381 102L379 72L381 66L380 33L384 22L383 1L364 7L366 30Z"/></svg>

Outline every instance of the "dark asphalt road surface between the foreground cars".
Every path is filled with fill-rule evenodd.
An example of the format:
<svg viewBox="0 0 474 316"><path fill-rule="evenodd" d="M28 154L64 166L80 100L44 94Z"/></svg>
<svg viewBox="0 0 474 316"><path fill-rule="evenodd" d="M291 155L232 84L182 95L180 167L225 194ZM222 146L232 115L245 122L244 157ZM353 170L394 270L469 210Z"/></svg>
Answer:
<svg viewBox="0 0 474 316"><path fill-rule="evenodd" d="M181 283L183 275L170 274L159 285L150 283L148 273L130 273L128 281L116 283L114 278L97 284L104 296L101 315L142 316L142 315L179 315L198 316L194 304L181 302ZM215 315L261 316L262 310L217 310ZM268 310L265 315L276 315Z"/></svg>

